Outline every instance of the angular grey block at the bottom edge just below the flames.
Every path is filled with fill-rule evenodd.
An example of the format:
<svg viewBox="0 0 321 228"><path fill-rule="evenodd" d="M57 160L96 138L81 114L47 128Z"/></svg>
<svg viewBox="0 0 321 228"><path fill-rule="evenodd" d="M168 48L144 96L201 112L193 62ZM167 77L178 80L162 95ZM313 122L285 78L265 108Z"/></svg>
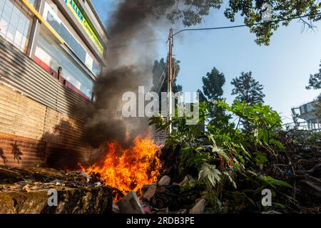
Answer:
<svg viewBox="0 0 321 228"><path fill-rule="evenodd" d="M118 207L119 211L123 214L145 214L136 192L128 192L127 195L118 202Z"/></svg>

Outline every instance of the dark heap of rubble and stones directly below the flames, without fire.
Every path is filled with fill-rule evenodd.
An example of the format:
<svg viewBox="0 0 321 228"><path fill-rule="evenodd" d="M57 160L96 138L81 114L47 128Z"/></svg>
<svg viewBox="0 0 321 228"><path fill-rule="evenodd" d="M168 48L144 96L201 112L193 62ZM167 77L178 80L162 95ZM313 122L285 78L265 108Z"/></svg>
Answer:
<svg viewBox="0 0 321 228"><path fill-rule="evenodd" d="M156 184L144 185L138 192L128 192L119 202L113 203L113 212L125 214L202 214L205 199L200 192L182 188L188 177L180 183L171 183L164 175Z"/></svg>

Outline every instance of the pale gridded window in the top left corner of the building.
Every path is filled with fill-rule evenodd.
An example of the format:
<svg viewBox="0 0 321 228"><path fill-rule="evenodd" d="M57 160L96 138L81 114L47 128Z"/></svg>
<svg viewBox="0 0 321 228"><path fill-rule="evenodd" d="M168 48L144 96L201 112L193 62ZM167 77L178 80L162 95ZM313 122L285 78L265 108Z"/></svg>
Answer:
<svg viewBox="0 0 321 228"><path fill-rule="evenodd" d="M0 0L0 35L26 52L31 19L11 0Z"/></svg>

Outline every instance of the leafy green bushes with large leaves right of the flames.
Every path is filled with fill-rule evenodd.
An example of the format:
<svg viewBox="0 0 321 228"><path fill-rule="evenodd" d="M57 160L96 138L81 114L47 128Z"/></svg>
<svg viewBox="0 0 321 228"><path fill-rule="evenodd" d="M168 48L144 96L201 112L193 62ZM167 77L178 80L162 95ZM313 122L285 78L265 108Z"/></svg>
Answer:
<svg viewBox="0 0 321 228"><path fill-rule="evenodd" d="M229 122L223 128L216 128L207 121L207 131L203 133L196 125L186 125L186 116L171 121L161 116L151 119L151 124L156 124L158 130L167 129L170 123L175 126L168 134L165 148L179 150L178 173L184 176L198 170L198 180L190 181L187 186L204 189L205 199L210 202L213 212L236 212L245 208L264 211L283 207L280 198L275 198L270 208L261 204L263 189L269 188L272 194L280 196L286 195L282 193L284 188L292 188L269 173L269 163L283 149L278 140L280 115L261 103L244 105L236 100L233 105L223 101L218 101L217 105L233 115L248 118L255 130L243 133ZM202 123L209 116L210 105L203 102L199 106ZM235 203L234 207L231 202Z"/></svg>

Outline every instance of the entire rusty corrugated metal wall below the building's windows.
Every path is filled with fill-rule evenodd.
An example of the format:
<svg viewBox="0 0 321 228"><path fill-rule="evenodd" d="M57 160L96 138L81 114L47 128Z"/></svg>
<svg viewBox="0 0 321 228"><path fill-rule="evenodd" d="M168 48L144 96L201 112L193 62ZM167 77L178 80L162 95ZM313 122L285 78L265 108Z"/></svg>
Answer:
<svg viewBox="0 0 321 228"><path fill-rule="evenodd" d="M90 104L0 37L0 165L90 162L96 150L81 140Z"/></svg>

